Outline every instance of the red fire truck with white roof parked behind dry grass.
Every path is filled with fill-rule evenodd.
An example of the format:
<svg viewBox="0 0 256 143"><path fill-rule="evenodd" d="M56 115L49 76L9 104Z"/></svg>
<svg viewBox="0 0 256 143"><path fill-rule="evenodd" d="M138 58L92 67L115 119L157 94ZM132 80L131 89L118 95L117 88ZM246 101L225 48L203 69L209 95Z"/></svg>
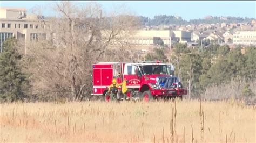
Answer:
<svg viewBox="0 0 256 143"><path fill-rule="evenodd" d="M126 87L132 92L127 96L133 99L151 101L161 97L181 97L187 90L173 76L174 66L160 62L99 62L93 64L93 95L103 95L110 101L109 86L113 78L117 83L128 81Z"/></svg>

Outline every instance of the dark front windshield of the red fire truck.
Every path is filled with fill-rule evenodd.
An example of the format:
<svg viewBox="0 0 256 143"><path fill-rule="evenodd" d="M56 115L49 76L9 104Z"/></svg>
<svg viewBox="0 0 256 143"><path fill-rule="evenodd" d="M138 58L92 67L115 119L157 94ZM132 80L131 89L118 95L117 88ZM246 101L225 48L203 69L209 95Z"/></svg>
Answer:
<svg viewBox="0 0 256 143"><path fill-rule="evenodd" d="M139 66L139 68L143 75L170 74L166 65L145 65Z"/></svg>

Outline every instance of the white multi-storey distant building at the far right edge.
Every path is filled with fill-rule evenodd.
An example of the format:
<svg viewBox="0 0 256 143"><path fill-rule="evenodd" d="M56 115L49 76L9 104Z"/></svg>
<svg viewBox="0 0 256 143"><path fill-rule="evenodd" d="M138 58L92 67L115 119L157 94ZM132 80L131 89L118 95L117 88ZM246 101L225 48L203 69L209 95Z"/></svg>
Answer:
<svg viewBox="0 0 256 143"><path fill-rule="evenodd" d="M256 46L256 31L238 31L234 33L233 44L242 46Z"/></svg>

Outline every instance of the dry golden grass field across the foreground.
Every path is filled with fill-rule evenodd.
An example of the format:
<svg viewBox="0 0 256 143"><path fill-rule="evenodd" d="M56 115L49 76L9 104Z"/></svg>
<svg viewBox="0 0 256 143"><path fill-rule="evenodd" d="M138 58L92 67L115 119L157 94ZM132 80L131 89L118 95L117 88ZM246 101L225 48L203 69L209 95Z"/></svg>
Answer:
<svg viewBox="0 0 256 143"><path fill-rule="evenodd" d="M5 103L0 141L255 142L255 116L231 101Z"/></svg>

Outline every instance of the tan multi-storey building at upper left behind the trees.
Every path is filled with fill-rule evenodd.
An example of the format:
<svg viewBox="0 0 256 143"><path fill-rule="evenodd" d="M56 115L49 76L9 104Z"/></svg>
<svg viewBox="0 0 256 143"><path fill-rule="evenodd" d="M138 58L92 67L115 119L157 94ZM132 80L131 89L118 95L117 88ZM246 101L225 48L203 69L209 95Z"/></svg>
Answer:
<svg viewBox="0 0 256 143"><path fill-rule="evenodd" d="M48 38L50 31L36 16L26 15L25 8L1 8L0 9L0 44L3 51L3 42L11 36L23 40L25 47L39 37ZM26 53L26 48L25 48Z"/></svg>

